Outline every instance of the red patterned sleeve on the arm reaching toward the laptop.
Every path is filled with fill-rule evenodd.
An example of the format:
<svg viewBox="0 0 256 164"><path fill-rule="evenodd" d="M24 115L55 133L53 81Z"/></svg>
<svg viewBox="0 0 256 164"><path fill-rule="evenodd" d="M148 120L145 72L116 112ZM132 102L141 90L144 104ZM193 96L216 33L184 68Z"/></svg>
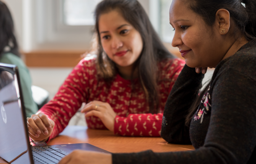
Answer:
<svg viewBox="0 0 256 164"><path fill-rule="evenodd" d="M89 74L92 72L90 71L92 67L85 65L86 62L80 61L61 85L54 98L39 110L55 122L49 140L65 129L71 117L87 99Z"/></svg>

